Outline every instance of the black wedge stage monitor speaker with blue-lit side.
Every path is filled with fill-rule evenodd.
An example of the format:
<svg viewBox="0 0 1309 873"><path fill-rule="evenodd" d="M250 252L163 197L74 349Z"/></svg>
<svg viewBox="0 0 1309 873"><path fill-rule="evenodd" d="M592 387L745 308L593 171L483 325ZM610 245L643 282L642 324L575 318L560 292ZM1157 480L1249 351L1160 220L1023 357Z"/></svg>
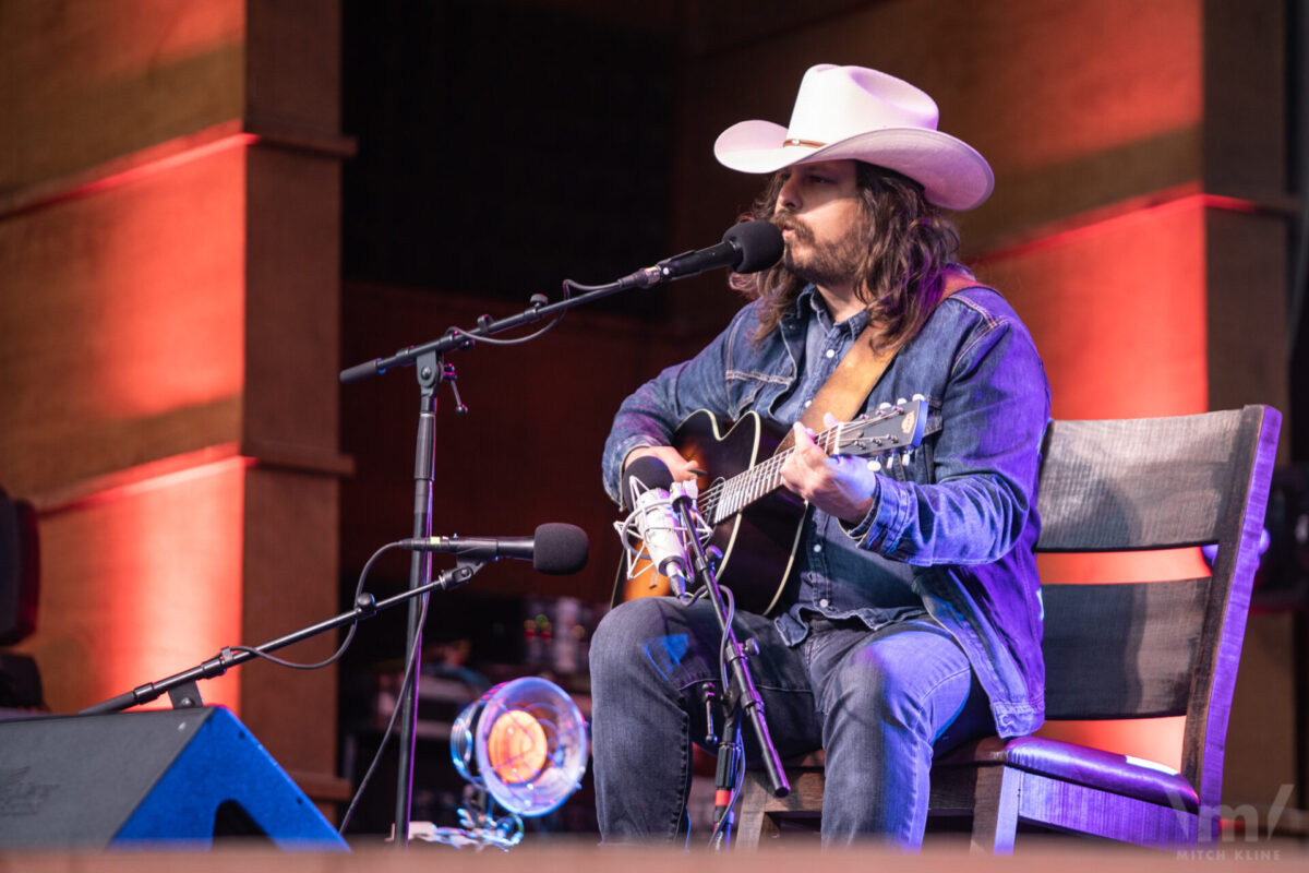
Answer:
<svg viewBox="0 0 1309 873"><path fill-rule="evenodd" d="M0 722L0 851L346 842L221 707Z"/></svg>

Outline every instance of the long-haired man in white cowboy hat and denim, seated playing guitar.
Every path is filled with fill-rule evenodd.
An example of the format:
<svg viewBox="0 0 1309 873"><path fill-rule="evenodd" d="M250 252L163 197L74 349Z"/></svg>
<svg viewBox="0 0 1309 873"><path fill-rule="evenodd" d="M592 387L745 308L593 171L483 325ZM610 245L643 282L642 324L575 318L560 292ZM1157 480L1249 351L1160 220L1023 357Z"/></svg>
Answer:
<svg viewBox="0 0 1309 873"><path fill-rule="evenodd" d="M754 300L624 401L605 448L606 488L620 499L623 469L643 455L694 475L669 442L698 408L791 429L781 480L810 507L792 582L768 618L738 611L736 627L759 645L750 669L778 750L826 750L825 843L918 846L933 753L1043 719L1031 550L1050 390L1014 312L954 263L941 207L980 204L992 175L936 122L918 88L823 64L805 73L788 127L728 128L715 154L772 174L753 217L783 229L785 254L733 276ZM847 355L878 368L864 372L863 411L927 398L908 463L830 457L812 438L812 425L834 424L809 407ZM703 601L634 599L600 624L590 664L606 842L678 834L690 743L704 736L695 691L719 675L719 643Z"/></svg>

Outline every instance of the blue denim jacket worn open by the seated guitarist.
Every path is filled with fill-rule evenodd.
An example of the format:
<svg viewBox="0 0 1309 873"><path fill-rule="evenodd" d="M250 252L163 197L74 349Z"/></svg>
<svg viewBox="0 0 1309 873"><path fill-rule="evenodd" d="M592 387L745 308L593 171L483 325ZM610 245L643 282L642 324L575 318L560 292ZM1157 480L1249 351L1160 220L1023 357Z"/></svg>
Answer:
<svg viewBox="0 0 1309 873"><path fill-rule="evenodd" d="M627 453L668 445L696 410L730 420L754 411L779 431L792 424L802 403L788 401L801 382L817 317L808 294L762 343L754 342L755 304L746 305L699 355L623 402L605 445L611 497L619 500ZM877 476L868 516L850 526L813 507L806 513L800 571L810 576L801 588L829 602L801 606L876 626L886 606L877 593L886 580L903 580L967 653L1000 736L1030 733L1045 719L1041 582L1031 551L1050 416L1045 368L1005 300L988 288L966 288L946 297L895 355L864 411L915 394L928 401L923 445L907 465ZM791 644L804 636L797 605L788 602L775 619Z"/></svg>

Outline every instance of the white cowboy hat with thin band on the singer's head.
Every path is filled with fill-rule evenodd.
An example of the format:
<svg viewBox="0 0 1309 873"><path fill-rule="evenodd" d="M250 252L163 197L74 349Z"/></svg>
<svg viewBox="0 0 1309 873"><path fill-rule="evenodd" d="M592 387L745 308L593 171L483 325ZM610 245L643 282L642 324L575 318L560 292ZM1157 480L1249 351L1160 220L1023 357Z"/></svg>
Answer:
<svg viewBox="0 0 1309 873"><path fill-rule="evenodd" d="M713 144L719 162L742 173L855 158L902 173L948 209L980 205L995 175L977 149L936 130L925 92L867 67L818 64L805 72L791 126L741 122Z"/></svg>

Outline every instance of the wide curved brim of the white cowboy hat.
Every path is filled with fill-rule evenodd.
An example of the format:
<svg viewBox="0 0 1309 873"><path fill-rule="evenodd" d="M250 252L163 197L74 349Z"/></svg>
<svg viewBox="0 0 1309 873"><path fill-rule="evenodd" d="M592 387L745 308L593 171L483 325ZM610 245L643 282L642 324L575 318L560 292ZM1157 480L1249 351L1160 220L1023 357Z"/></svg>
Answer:
<svg viewBox="0 0 1309 873"><path fill-rule="evenodd" d="M995 187L986 158L961 139L920 127L886 127L819 148L783 145L787 128L772 122L741 122L713 144L719 162L741 173L775 173L795 164L856 160L902 173L923 186L931 203L946 209L982 205Z"/></svg>

